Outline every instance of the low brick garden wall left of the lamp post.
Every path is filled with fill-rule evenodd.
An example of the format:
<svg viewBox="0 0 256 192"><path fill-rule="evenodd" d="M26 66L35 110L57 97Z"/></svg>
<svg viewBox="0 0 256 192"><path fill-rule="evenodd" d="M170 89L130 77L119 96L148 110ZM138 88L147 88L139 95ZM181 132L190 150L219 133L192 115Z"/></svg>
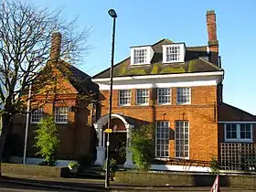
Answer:
<svg viewBox="0 0 256 192"><path fill-rule="evenodd" d="M27 175L27 176L50 176L50 177L69 176L69 167L2 164L1 170L3 174L17 174L17 175Z"/></svg>

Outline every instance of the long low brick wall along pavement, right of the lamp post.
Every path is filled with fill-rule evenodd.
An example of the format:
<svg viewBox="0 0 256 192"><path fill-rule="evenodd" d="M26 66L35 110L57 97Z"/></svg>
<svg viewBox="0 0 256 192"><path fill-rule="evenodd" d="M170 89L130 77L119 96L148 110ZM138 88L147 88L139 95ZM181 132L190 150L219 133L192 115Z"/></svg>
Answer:
<svg viewBox="0 0 256 192"><path fill-rule="evenodd" d="M142 186L197 186L211 187L216 176L208 174L178 173L178 172L138 172L118 171L115 174L116 183L129 183ZM219 176L221 187L256 187L256 176Z"/></svg>

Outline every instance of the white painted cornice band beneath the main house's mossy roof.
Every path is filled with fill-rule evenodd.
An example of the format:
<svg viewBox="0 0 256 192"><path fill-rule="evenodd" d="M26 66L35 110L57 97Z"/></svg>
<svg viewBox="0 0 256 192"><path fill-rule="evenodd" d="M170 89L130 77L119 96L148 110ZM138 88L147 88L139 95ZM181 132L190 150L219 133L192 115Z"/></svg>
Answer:
<svg viewBox="0 0 256 192"><path fill-rule="evenodd" d="M223 80L224 72L200 72L188 74L147 75L113 78L113 90L216 86ZM100 91L110 90L110 79L93 79Z"/></svg>

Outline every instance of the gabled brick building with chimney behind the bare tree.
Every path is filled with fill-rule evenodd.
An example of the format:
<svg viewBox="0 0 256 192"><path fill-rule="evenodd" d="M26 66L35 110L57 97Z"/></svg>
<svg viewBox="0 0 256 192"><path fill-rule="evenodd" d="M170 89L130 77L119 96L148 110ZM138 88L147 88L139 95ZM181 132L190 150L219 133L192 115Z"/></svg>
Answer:
<svg viewBox="0 0 256 192"><path fill-rule="evenodd" d="M58 158L79 159L93 154L95 102L99 87L91 77L60 59L61 34L54 33L47 66L38 73L32 84L31 114L27 139L27 163L38 163L34 147L37 123L47 114L54 116L58 126L60 145ZM38 81L37 81L38 80ZM49 82L48 82L49 81ZM43 86L41 85L42 83ZM17 115L12 129L16 139L12 155L22 156L27 118ZM13 158L16 159L16 158ZM31 160L32 159L32 160Z"/></svg>

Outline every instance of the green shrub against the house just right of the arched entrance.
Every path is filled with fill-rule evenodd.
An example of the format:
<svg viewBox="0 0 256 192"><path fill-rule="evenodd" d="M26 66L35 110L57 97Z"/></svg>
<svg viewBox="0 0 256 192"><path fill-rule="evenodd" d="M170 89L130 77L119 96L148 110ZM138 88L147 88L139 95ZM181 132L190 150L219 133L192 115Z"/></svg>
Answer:
<svg viewBox="0 0 256 192"><path fill-rule="evenodd" d="M155 153L155 126L153 124L142 125L133 131L132 145L129 148L133 152L133 162L139 170L148 170Z"/></svg>

